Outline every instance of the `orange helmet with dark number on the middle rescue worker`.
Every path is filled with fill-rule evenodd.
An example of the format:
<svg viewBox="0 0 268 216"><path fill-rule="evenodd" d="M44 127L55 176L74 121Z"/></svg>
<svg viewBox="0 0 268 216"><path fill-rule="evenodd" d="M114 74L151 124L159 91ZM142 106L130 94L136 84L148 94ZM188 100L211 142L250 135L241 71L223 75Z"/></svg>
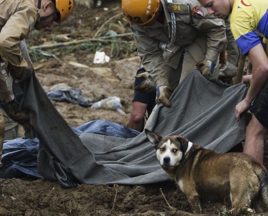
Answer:
<svg viewBox="0 0 268 216"><path fill-rule="evenodd" d="M160 7L160 0L122 0L122 10L126 19L135 25L150 22Z"/></svg>

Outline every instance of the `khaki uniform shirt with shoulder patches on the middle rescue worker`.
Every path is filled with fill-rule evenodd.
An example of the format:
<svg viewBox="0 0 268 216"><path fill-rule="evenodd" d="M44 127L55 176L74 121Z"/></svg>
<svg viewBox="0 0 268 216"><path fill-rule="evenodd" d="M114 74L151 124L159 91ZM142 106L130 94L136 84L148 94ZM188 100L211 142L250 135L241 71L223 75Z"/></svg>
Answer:
<svg viewBox="0 0 268 216"><path fill-rule="evenodd" d="M173 0L167 3L160 0L165 13L165 22L156 22L152 26L138 26L131 24L136 41L138 54L142 59L144 68L150 73L157 86L169 85L166 62L163 51L159 48L159 41L169 43L171 35L170 12L176 17L176 40L178 46L176 52L191 45L193 41L197 44L204 44L205 59L217 63L218 54L226 48L225 26L222 21L210 16L206 8L202 7L196 0ZM194 59L198 59L199 53L194 47L190 47L190 53ZM173 58L175 64L180 58ZM170 63L172 66L172 62ZM176 68L176 67L174 67Z"/></svg>

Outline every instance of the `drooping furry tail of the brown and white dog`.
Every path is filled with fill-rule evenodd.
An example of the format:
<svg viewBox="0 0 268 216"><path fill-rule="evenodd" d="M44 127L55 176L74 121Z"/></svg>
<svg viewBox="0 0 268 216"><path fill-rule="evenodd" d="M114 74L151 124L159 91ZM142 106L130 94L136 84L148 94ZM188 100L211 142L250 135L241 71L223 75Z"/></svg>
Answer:
<svg viewBox="0 0 268 216"><path fill-rule="evenodd" d="M260 181L260 193L262 195L263 203L266 207L268 207L268 173L267 170L263 168L259 168L256 171L256 175Z"/></svg>

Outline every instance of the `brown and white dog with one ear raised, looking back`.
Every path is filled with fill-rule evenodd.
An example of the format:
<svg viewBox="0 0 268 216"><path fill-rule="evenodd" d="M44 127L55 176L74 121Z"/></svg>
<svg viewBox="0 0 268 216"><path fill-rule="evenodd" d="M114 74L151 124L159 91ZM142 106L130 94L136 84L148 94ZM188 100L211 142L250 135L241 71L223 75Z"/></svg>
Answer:
<svg viewBox="0 0 268 216"><path fill-rule="evenodd" d="M201 200L230 200L232 207L268 207L268 174L265 167L244 153L217 154L182 136L161 137L145 129L162 168L185 193L195 213Z"/></svg>

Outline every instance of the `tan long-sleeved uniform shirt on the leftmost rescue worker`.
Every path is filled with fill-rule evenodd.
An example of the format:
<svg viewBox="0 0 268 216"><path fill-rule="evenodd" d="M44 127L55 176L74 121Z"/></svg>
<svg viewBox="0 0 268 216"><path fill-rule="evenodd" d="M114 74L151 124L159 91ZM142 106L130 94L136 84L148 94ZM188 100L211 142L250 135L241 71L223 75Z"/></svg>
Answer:
<svg viewBox="0 0 268 216"><path fill-rule="evenodd" d="M27 67L27 61L22 57L19 43L40 20L40 10L35 7L34 0L0 0L0 58L8 63ZM0 100L8 97L5 78L0 73Z"/></svg>

